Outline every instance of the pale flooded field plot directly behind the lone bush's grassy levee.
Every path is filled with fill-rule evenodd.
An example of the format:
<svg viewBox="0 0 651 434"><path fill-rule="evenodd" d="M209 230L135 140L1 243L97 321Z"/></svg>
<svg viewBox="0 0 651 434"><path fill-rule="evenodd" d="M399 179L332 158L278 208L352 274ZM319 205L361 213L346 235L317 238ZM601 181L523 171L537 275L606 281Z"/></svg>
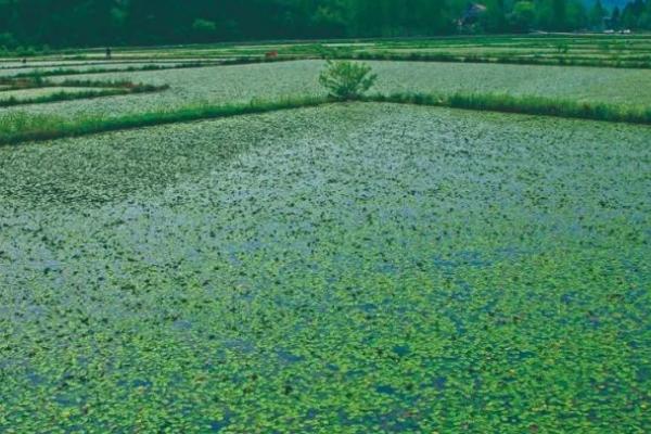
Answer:
<svg viewBox="0 0 651 434"><path fill-rule="evenodd" d="M456 64L424 62L369 62L379 75L373 91L506 93L647 106L651 101L651 69ZM66 101L21 107L29 113L63 116L126 113L169 108L190 103L248 102L288 95L323 94L318 75L322 61L296 61L237 66L213 66L156 72L74 76L76 79L131 80L169 85L165 92ZM53 80L65 77L53 77ZM372 93L372 92L371 92ZM0 113L2 113L0 111Z"/></svg>

